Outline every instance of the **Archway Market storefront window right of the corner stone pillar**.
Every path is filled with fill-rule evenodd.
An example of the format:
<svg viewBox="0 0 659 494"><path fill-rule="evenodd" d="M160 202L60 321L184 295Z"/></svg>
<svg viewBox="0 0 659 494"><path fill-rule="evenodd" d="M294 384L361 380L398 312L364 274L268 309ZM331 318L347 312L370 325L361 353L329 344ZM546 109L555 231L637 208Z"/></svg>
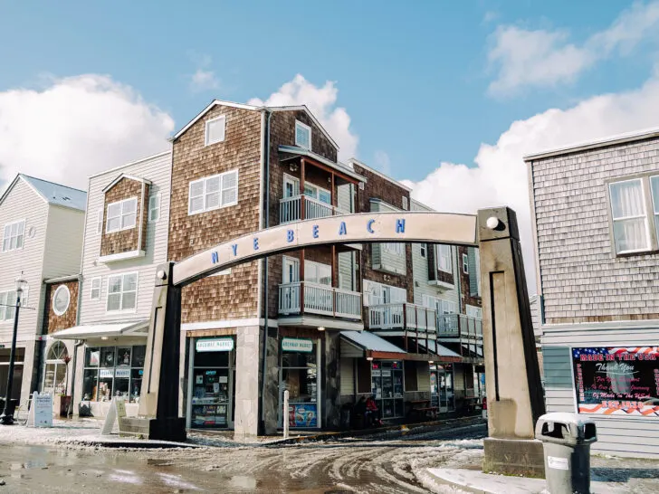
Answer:
<svg viewBox="0 0 659 494"><path fill-rule="evenodd" d="M318 392L320 387L317 340L282 338L280 400L289 392L288 421L291 427L320 426Z"/></svg>

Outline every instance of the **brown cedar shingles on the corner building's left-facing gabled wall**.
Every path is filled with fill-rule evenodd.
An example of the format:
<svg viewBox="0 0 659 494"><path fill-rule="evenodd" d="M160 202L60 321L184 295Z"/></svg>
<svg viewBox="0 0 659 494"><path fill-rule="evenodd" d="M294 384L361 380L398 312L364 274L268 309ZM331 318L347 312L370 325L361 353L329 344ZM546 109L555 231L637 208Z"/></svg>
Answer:
<svg viewBox="0 0 659 494"><path fill-rule="evenodd" d="M205 121L226 117L223 142L205 146ZM216 106L173 143L169 259L180 261L216 243L259 229L261 112ZM198 178L238 170L238 204L187 214L188 186ZM205 278L183 290L182 322L254 318L258 262Z"/></svg>

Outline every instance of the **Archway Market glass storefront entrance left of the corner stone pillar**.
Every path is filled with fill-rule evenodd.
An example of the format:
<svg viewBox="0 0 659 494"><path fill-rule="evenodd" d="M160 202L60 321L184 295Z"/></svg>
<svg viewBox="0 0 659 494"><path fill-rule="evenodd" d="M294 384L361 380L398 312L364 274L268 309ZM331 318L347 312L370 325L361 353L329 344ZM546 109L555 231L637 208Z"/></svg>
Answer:
<svg viewBox="0 0 659 494"><path fill-rule="evenodd" d="M229 427L234 400L234 338L200 338L195 342L192 379L192 427Z"/></svg>

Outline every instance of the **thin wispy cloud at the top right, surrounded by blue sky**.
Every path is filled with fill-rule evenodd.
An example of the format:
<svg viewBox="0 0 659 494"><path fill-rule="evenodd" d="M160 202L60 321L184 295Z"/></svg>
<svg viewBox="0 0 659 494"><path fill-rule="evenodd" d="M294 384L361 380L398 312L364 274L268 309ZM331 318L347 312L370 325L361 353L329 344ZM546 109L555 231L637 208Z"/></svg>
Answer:
<svg viewBox="0 0 659 494"><path fill-rule="evenodd" d="M525 86L551 87L575 81L578 75L615 52L625 55L647 37L659 33L659 2L636 3L606 30L591 35L580 46L568 43L565 31L530 31L499 26L488 53L497 75L488 90L509 96Z"/></svg>

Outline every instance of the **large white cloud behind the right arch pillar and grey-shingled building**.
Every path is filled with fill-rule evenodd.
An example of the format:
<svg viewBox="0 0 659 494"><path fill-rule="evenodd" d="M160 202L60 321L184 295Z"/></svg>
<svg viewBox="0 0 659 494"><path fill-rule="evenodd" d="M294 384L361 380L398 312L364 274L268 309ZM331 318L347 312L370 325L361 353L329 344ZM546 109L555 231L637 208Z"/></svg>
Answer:
<svg viewBox="0 0 659 494"><path fill-rule="evenodd" d="M494 145L482 144L475 167L442 163L414 188L415 199L438 211L473 214L509 205L520 220L530 293L535 293L527 166L522 156L575 142L659 126L659 71L639 90L605 94L570 109L548 109L513 122Z"/></svg>

